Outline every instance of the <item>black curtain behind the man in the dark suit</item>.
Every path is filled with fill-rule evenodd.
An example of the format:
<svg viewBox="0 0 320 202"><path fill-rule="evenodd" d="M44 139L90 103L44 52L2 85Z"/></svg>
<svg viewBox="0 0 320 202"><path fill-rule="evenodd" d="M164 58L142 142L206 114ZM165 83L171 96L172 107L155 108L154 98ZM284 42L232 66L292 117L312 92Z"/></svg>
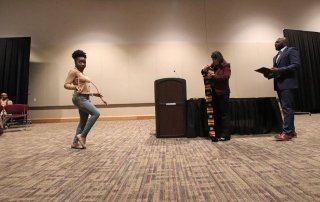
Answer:
<svg viewBox="0 0 320 202"><path fill-rule="evenodd" d="M285 29L283 35L301 57L296 111L320 112L320 33Z"/></svg>

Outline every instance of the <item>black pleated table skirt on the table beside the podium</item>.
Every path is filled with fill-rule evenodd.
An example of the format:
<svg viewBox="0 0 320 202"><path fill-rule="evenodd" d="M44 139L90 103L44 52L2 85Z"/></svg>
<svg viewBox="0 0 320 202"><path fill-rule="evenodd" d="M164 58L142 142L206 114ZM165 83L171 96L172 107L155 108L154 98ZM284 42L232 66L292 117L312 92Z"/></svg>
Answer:
<svg viewBox="0 0 320 202"><path fill-rule="evenodd" d="M190 99L187 105L187 137L208 136L204 98ZM231 134L266 134L282 131L282 118L275 97L230 98Z"/></svg>

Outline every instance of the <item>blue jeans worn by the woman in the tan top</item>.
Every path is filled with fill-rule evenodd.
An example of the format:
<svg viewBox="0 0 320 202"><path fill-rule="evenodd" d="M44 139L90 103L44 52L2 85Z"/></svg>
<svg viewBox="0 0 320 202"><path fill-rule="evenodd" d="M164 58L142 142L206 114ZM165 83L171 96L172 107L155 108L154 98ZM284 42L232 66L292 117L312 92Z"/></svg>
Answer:
<svg viewBox="0 0 320 202"><path fill-rule="evenodd" d="M87 137L90 129L99 118L100 113L91 103L89 95L73 95L72 102L78 107L80 115L80 122L77 127L76 135L73 139L73 143L75 144L78 142L77 134L81 134L82 137Z"/></svg>

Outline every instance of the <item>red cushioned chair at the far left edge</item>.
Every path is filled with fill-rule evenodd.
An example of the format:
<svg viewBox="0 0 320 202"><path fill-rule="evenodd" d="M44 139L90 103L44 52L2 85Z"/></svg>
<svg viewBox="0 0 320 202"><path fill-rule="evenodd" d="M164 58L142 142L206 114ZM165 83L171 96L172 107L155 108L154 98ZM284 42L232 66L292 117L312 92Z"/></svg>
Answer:
<svg viewBox="0 0 320 202"><path fill-rule="evenodd" d="M10 127L11 125L28 124L28 109L29 106L26 104L4 106L3 125Z"/></svg>

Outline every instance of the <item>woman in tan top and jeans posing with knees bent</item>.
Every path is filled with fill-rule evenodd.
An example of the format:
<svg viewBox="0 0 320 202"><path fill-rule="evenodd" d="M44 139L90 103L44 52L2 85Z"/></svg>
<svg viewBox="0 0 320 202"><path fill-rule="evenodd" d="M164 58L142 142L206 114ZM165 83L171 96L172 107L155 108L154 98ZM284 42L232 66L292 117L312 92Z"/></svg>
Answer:
<svg viewBox="0 0 320 202"><path fill-rule="evenodd" d="M71 148L85 149L87 135L100 116L97 108L91 103L90 96L101 98L102 95L99 92L90 92L89 83L91 83L91 81L83 73L86 68L86 53L82 50L76 50L72 53L72 58L74 59L75 68L69 71L64 88L74 91L72 102L78 107L80 122L77 126Z"/></svg>

